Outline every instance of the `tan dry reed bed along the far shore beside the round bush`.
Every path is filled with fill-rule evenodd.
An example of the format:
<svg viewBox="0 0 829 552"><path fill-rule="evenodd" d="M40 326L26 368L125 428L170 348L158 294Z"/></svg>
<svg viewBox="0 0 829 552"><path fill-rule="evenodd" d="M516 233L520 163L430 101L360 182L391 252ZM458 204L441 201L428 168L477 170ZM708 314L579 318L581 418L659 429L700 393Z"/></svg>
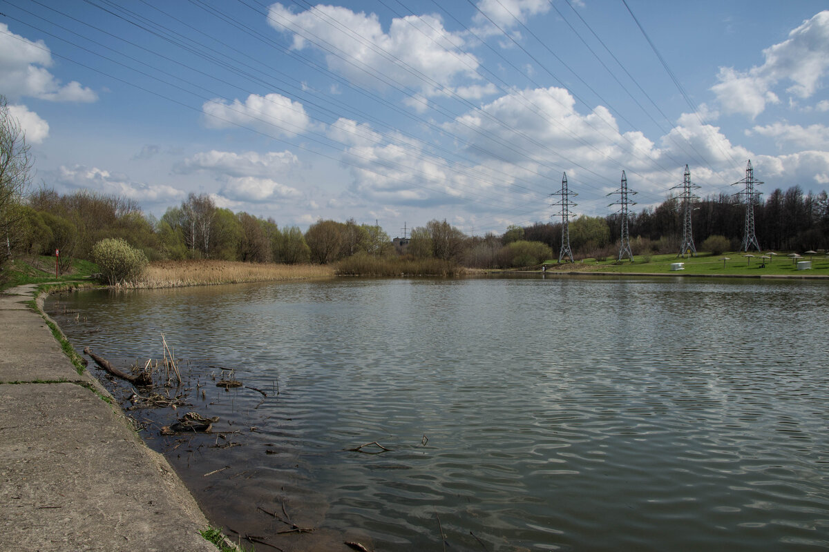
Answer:
<svg viewBox="0 0 829 552"><path fill-rule="evenodd" d="M138 281L121 287L155 289L162 287L212 286L254 281L289 281L331 278L332 266L253 264L230 261L151 262Z"/></svg>

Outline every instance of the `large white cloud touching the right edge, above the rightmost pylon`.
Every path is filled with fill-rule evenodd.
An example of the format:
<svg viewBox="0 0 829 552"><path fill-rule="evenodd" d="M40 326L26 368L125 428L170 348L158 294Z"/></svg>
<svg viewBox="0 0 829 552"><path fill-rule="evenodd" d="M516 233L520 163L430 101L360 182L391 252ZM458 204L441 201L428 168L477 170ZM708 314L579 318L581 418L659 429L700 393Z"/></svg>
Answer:
<svg viewBox="0 0 829 552"><path fill-rule="evenodd" d="M767 103L778 103L773 88L790 82L785 90L798 98L809 98L817 91L829 70L829 11L817 13L793 31L788 39L763 50L764 64L746 71L720 67L711 87L722 108L750 118L763 113Z"/></svg>

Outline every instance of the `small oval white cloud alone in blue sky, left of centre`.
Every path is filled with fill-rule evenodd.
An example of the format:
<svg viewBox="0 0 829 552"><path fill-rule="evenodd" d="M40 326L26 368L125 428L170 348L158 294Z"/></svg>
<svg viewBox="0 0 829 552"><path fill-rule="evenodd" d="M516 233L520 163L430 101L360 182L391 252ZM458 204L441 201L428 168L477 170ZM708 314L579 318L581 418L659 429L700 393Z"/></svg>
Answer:
<svg viewBox="0 0 829 552"><path fill-rule="evenodd" d="M250 94L245 103L238 99L230 103L213 99L205 102L201 109L206 126L212 128L241 125L255 127L266 134L293 137L306 132L311 125L303 104L281 94Z"/></svg>

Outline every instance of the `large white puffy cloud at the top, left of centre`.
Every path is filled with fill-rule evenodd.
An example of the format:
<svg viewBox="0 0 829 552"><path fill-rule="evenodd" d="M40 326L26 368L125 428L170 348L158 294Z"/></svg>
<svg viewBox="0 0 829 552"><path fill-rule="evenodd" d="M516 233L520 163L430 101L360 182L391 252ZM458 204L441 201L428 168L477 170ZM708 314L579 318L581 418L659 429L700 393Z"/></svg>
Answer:
<svg viewBox="0 0 829 552"><path fill-rule="evenodd" d="M395 18L386 32L374 13L322 5L294 13L275 3L268 22L293 33L295 50L326 48L329 69L373 89L397 83L430 96L454 79L477 78L478 59L463 52L463 37L446 31L435 15Z"/></svg>

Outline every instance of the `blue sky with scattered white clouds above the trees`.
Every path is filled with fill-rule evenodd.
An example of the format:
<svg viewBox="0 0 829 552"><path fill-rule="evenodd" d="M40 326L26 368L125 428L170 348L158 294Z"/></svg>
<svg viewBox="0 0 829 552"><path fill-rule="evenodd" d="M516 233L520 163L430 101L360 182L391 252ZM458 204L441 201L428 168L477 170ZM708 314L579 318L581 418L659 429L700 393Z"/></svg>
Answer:
<svg viewBox="0 0 829 552"><path fill-rule="evenodd" d="M829 4L0 0L35 185L469 235L680 190L829 190ZM553 195L551 195L553 194Z"/></svg>

